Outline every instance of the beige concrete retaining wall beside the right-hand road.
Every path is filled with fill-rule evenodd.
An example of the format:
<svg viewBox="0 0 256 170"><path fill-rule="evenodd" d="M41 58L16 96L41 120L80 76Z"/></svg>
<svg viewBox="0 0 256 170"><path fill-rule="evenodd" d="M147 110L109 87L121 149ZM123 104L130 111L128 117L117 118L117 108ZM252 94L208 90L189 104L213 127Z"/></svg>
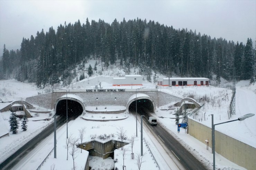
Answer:
<svg viewBox="0 0 256 170"><path fill-rule="evenodd" d="M189 134L199 141L209 140L212 147L211 128L189 118ZM206 148L206 146L205 146ZM215 151L228 160L248 170L256 169L256 148L215 130Z"/></svg>

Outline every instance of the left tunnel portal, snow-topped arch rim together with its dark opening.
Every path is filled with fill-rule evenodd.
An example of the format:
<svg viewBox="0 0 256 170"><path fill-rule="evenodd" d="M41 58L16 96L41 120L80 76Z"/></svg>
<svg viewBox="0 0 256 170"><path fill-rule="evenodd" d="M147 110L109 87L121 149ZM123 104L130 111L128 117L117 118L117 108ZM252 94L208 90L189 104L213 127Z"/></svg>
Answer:
<svg viewBox="0 0 256 170"><path fill-rule="evenodd" d="M66 116L66 102L67 102L67 115L78 116L85 111L83 100L75 94L67 94L58 98L54 105L56 114Z"/></svg>

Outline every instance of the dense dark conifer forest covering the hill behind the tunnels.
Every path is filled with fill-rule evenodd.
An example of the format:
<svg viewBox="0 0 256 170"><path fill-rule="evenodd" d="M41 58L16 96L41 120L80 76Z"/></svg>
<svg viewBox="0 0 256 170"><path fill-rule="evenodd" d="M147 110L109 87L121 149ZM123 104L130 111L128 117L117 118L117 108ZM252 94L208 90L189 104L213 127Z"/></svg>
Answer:
<svg viewBox="0 0 256 170"><path fill-rule="evenodd" d="M115 19L111 24L101 19L91 23L86 19L85 24L65 22L56 31L51 27L36 37L23 38L20 49L9 51L4 46L0 79L28 80L44 87L60 82L62 75L68 84L75 77L74 66L83 67L88 58L100 59L102 69L120 62L124 68L144 66L167 76L211 78L216 74L217 79L229 79L235 71L239 79L246 80L255 74L250 38L246 44L212 39L137 18L120 23Z"/></svg>

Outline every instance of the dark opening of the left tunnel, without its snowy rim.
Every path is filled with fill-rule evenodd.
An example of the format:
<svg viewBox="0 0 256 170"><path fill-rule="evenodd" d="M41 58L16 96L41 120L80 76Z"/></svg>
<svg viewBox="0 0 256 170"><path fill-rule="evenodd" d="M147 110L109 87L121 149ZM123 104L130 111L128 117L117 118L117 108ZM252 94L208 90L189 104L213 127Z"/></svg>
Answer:
<svg viewBox="0 0 256 170"><path fill-rule="evenodd" d="M66 101L67 101L67 106L66 106ZM66 112L67 108L67 112ZM60 100L57 103L56 106L56 115L61 115L65 116L66 114L68 117L78 117L80 114L83 113L83 107L81 104L77 101L74 100Z"/></svg>

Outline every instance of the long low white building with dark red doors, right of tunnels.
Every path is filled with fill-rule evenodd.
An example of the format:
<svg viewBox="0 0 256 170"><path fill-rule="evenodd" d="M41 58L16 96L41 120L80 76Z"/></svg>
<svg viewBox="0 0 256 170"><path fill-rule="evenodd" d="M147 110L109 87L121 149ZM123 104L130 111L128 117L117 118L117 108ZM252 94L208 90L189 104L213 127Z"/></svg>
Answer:
<svg viewBox="0 0 256 170"><path fill-rule="evenodd" d="M208 78L202 77L172 77L172 78L157 78L158 86L209 86Z"/></svg>

